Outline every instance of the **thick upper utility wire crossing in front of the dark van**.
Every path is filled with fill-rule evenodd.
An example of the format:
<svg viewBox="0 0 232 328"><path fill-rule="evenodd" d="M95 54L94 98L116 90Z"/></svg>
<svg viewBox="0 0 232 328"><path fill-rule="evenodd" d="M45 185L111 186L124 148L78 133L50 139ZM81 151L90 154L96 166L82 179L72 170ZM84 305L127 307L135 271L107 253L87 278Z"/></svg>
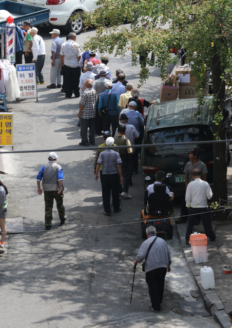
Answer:
<svg viewBox="0 0 232 328"><path fill-rule="evenodd" d="M101 149L124 149L124 148L155 148L165 146L180 146L192 144L217 144L222 142L231 142L232 140L211 140L211 141L189 141L189 142L165 142L163 144L145 144L145 145L130 145L130 146L106 146ZM1 151L1 154L16 154L16 153L45 153L45 152L72 152L81 150L99 150L99 147L84 147L84 148L66 148L66 149L41 149L41 150L16 150L16 151Z"/></svg>

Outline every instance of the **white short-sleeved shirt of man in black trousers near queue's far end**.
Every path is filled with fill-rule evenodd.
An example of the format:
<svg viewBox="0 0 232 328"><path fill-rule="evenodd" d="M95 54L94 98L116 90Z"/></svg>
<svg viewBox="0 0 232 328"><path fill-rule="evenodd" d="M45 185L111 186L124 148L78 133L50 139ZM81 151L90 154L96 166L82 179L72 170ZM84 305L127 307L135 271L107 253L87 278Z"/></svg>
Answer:
<svg viewBox="0 0 232 328"><path fill-rule="evenodd" d="M73 40L68 40L61 45L61 55L64 56L64 65L68 67L78 67L78 57L81 56L79 44Z"/></svg>

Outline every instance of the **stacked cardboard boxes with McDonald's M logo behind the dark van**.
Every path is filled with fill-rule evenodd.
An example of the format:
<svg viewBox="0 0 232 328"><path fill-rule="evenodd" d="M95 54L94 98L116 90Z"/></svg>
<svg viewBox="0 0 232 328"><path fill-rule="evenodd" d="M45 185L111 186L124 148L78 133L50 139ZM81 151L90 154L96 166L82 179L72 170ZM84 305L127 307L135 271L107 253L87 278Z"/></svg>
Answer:
<svg viewBox="0 0 232 328"><path fill-rule="evenodd" d="M197 80L192 74L191 67L187 65L179 66L176 70L176 75L180 80L179 99L197 98L197 92L195 91ZM202 93L208 95L208 91L209 85L207 82Z"/></svg>

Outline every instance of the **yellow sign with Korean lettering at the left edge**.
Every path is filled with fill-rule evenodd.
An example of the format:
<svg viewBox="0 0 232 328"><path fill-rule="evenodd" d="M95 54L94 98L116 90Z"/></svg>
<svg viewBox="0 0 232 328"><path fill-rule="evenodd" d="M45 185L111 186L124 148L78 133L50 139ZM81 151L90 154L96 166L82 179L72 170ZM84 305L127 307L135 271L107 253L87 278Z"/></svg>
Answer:
<svg viewBox="0 0 232 328"><path fill-rule="evenodd" d="M13 147L13 114L0 113L0 146Z"/></svg>

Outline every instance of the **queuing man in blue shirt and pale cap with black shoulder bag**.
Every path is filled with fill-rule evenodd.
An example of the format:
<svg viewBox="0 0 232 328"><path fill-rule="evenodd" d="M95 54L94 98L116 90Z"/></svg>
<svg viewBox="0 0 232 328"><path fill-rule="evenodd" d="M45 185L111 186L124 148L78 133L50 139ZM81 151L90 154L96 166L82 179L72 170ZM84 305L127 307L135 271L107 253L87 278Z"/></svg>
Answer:
<svg viewBox="0 0 232 328"><path fill-rule="evenodd" d="M116 129L118 128L118 117L120 113L120 108L118 106L119 96L117 92L114 92L112 89L112 82L107 80L105 82L105 92L100 93L98 110L99 115L103 116L103 129L104 131L110 131L110 126L112 125L112 135L115 134ZM107 107L107 114L102 114L101 108Z"/></svg>

